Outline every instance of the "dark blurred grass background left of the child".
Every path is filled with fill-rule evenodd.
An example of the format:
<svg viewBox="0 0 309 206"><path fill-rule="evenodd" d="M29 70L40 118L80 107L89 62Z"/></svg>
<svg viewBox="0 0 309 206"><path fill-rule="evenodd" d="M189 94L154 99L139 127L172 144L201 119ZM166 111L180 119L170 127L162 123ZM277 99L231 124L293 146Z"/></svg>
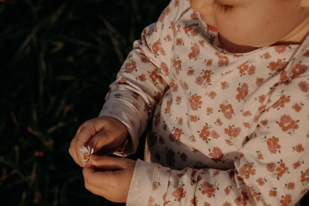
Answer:
<svg viewBox="0 0 309 206"><path fill-rule="evenodd" d="M0 0L1 205L124 205L87 191L68 149L168 3Z"/></svg>

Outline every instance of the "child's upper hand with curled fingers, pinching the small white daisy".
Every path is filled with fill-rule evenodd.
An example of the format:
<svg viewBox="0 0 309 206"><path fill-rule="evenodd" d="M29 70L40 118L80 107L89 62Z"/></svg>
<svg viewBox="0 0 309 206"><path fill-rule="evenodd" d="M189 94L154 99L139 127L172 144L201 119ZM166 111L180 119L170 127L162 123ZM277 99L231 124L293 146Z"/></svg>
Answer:
<svg viewBox="0 0 309 206"><path fill-rule="evenodd" d="M112 154L123 145L128 135L127 127L120 121L112 117L97 117L84 122L78 128L71 141L69 153L78 165L83 166L79 148L90 146L96 153L104 147L104 155Z"/></svg>

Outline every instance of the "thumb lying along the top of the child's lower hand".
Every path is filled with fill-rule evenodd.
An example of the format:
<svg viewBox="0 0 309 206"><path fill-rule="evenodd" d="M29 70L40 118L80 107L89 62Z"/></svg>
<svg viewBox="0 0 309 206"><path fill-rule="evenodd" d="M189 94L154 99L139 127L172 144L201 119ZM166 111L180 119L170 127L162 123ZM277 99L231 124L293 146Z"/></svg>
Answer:
<svg viewBox="0 0 309 206"><path fill-rule="evenodd" d="M126 159L123 158L115 158L115 157L108 157L108 156L90 156L91 164L99 168L101 170L122 170L125 169L125 162Z"/></svg>

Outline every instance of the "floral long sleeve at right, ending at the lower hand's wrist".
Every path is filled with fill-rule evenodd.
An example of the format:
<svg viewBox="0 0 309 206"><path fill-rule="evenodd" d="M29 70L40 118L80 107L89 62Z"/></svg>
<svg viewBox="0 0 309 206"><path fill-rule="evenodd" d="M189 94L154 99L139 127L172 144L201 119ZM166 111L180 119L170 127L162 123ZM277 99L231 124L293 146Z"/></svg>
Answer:
<svg viewBox="0 0 309 206"><path fill-rule="evenodd" d="M128 205L296 204L309 186L309 76L294 74L282 73L285 83L265 98L255 117L260 124L242 143L234 169L171 170L138 161L144 172L136 172L139 181L131 187L139 189ZM218 147L209 153L223 155Z"/></svg>

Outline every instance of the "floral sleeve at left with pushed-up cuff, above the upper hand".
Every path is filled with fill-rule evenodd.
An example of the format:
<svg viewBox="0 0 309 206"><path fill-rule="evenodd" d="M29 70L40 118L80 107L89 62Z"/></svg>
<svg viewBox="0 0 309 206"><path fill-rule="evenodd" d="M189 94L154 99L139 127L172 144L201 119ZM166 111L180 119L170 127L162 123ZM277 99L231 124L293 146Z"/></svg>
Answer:
<svg viewBox="0 0 309 206"><path fill-rule="evenodd" d="M134 49L117 74L116 81L110 85L99 114L114 117L127 126L132 139L128 154L135 152L138 138L169 86L175 21L189 6L188 1L184 2L186 5L178 0L171 1L159 20L143 30L142 39L134 42Z"/></svg>

